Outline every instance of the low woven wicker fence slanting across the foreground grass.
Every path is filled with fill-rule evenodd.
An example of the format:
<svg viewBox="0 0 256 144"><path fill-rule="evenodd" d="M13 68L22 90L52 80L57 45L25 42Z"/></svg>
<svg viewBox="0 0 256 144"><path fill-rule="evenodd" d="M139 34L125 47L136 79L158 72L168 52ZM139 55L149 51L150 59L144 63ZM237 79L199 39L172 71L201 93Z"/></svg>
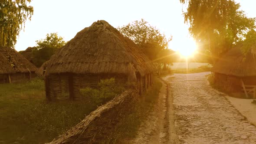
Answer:
<svg viewBox="0 0 256 144"><path fill-rule="evenodd" d="M137 99L136 92L123 92L48 144L103 144L107 133L115 130L118 121L131 111Z"/></svg>

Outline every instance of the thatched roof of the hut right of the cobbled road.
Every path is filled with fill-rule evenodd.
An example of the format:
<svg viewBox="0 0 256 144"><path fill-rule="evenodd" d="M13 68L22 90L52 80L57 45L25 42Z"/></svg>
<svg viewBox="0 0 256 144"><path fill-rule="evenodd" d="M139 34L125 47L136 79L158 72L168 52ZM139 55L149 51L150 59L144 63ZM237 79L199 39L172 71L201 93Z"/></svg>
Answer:
<svg viewBox="0 0 256 144"><path fill-rule="evenodd" d="M256 76L255 50L256 48L251 48L244 56L241 46L236 46L221 56L213 65L212 71L239 77Z"/></svg>

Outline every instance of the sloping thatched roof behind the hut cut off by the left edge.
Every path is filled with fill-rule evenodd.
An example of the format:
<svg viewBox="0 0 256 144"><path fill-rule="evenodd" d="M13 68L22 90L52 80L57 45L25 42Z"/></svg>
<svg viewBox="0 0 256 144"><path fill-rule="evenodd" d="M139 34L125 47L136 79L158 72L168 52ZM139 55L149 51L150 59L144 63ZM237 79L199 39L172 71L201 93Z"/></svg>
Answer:
<svg viewBox="0 0 256 144"><path fill-rule="evenodd" d="M35 65L24 58L15 49L0 47L0 53L6 58L10 57L10 61L15 65L15 69L19 72L35 72L37 69Z"/></svg>

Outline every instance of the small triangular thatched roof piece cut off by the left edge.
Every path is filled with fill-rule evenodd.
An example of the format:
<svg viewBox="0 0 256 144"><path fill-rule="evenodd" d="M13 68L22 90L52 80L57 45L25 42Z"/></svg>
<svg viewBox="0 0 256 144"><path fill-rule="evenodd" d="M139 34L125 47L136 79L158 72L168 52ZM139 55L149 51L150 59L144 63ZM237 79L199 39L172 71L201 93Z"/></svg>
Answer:
<svg viewBox="0 0 256 144"><path fill-rule="evenodd" d="M2 53L0 53L0 74L10 74L15 73L13 67L8 62L5 56L3 56Z"/></svg>

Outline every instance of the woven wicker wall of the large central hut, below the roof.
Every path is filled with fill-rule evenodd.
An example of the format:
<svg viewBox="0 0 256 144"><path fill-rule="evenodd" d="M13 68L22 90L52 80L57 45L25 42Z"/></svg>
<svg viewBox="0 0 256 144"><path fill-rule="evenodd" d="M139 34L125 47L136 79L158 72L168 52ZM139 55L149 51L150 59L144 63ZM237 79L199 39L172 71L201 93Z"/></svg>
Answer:
<svg viewBox="0 0 256 144"><path fill-rule="evenodd" d="M48 80L47 96L49 99L69 99L69 76L70 74L62 75L49 75L46 79ZM115 74L85 74L85 75L72 75L73 84L73 99L74 100L88 100L88 97L80 95L80 88L98 88L98 82L100 79L115 78L115 82L119 85L124 85L128 77L126 75L115 75Z"/></svg>

